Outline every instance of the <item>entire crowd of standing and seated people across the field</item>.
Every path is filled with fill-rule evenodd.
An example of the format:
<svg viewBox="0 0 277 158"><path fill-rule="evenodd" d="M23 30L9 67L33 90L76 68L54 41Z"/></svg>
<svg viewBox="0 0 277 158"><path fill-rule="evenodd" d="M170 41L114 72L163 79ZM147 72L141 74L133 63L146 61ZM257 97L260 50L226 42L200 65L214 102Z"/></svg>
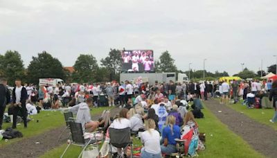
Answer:
<svg viewBox="0 0 277 158"><path fill-rule="evenodd" d="M26 116L37 113L32 106L38 103L39 108L57 109L69 107L76 114L76 122L82 124L83 130L93 132L101 127L105 133L109 128L131 128L133 132L145 131L141 134L144 148L142 157L161 157L161 153L171 154L177 152L176 139L188 137L193 132L192 140L199 141L198 124L195 118L204 118L201 112L202 101L211 97L220 97L220 103L238 103L240 98L251 107L249 98L263 97L274 101L275 115L271 122L277 121L276 100L277 81L239 81L223 80L220 82L183 82L168 83L148 82L100 82L96 84L65 84L65 85L21 85L21 80L16 80L16 87L12 95L6 88L7 80L0 78L1 108L0 128L6 104L12 100L14 117L12 128L16 128L17 114L20 111L27 127ZM12 96L12 98L10 98ZM26 105L27 103L27 105ZM30 107L28 107L30 105ZM91 120L89 107L118 106L120 113L114 117L109 110L105 110L97 121ZM28 108L27 108L28 107ZM190 109L191 108L191 109ZM162 139L160 139L160 137ZM188 144L187 144L188 146ZM187 151L188 152L188 151Z"/></svg>

